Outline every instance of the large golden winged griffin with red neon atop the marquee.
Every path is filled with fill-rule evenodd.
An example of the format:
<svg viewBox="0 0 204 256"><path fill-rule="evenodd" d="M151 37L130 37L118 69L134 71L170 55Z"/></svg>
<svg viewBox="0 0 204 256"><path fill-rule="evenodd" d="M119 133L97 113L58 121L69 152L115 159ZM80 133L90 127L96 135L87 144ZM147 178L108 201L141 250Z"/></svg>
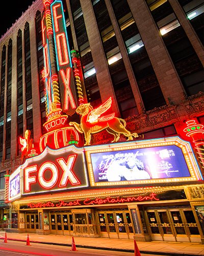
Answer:
<svg viewBox="0 0 204 256"><path fill-rule="evenodd" d="M76 113L81 115L81 123L69 122L69 125L73 125L79 133L84 133L86 145L90 145L91 134L99 133L106 130L108 133L114 135L112 142L117 142L120 138L120 134L128 137L127 140L133 140L133 137L138 137L137 133L131 133L125 129L126 122L115 117L115 113L101 116L108 109L110 109L112 103L111 97L97 109L93 109L90 103L81 104L78 106Z"/></svg>

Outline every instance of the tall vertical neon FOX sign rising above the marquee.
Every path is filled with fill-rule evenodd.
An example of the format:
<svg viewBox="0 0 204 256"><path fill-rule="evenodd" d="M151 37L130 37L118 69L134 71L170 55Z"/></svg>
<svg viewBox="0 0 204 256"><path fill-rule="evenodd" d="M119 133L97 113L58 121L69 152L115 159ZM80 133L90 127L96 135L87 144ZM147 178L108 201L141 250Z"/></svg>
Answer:
<svg viewBox="0 0 204 256"><path fill-rule="evenodd" d="M77 94L72 72L62 1L43 0L42 40L47 115L62 109L71 116L77 108ZM59 83L58 83L59 80Z"/></svg>

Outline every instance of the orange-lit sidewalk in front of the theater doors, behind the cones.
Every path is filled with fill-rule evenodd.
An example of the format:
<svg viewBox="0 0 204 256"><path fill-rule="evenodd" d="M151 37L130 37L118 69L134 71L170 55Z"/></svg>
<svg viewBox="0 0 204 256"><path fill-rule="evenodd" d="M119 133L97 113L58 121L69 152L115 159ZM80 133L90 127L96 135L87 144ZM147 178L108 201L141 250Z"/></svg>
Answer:
<svg viewBox="0 0 204 256"><path fill-rule="evenodd" d="M27 240L28 233L7 233L7 240L23 241ZM5 232L0 231L0 239L4 239ZM43 243L71 246L72 236L60 236L55 234L40 235L29 233L31 243ZM74 237L77 248L92 248L134 252L134 241L125 239L107 239L107 238L81 238ZM137 242L141 253L158 253L160 255L188 256L204 255L204 245L198 243L172 243L172 242Z"/></svg>

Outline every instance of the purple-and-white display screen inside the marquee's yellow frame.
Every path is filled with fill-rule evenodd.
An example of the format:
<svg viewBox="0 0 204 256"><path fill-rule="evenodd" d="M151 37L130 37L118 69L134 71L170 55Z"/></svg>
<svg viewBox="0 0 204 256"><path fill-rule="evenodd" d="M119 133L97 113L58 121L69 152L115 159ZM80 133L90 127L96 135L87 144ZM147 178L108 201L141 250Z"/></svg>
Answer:
<svg viewBox="0 0 204 256"><path fill-rule="evenodd" d="M183 152L175 145L91 154L95 182L189 177Z"/></svg>

